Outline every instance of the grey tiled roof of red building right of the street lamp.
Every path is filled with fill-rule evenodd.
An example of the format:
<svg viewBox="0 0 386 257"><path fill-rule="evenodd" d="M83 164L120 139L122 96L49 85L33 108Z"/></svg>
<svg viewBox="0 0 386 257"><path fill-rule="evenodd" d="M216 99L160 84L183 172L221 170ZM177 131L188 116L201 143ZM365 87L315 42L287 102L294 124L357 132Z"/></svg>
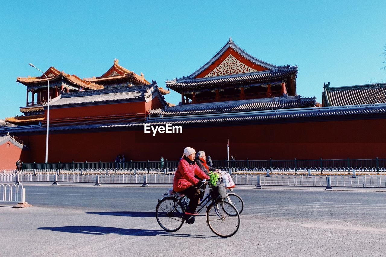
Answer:
<svg viewBox="0 0 386 257"><path fill-rule="evenodd" d="M67 105L85 105L93 103L108 102L129 102L129 101L150 101L154 97L159 97L161 103L167 106L165 98L159 92L157 86L133 86L124 88L109 88L103 90L93 90L85 92L62 93L50 101L50 108L62 107ZM46 108L47 104L44 104Z"/></svg>

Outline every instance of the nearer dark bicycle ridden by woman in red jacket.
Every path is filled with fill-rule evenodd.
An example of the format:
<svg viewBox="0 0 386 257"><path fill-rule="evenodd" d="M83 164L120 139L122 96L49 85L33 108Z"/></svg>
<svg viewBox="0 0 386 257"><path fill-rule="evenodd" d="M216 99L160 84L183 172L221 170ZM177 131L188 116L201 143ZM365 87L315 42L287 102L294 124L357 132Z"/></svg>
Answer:
<svg viewBox="0 0 386 257"><path fill-rule="evenodd" d="M207 182L203 183L203 185L204 184L208 184L210 194L198 205L199 209L197 212L200 213L201 210L207 207L205 218L210 230L219 237L232 237L240 227L239 212L231 203L213 199L212 184ZM193 224L195 222L195 216L185 215L185 210L188 208L188 205L184 194L171 194L169 192L163 194L163 198L158 200L156 218L159 226L163 228L163 230L176 232L182 227L184 222Z"/></svg>

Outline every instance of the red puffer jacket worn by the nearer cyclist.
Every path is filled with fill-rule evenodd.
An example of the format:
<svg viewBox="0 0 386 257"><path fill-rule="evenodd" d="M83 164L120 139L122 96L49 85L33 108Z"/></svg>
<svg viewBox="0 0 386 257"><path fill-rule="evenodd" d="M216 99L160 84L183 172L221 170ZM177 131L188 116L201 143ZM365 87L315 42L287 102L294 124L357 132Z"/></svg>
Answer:
<svg viewBox="0 0 386 257"><path fill-rule="evenodd" d="M194 175L197 175L200 179L210 179L207 174L201 171L195 162L189 164L185 159L179 161L178 168L174 174L173 190L181 192L190 186L196 185L198 179L196 179Z"/></svg>

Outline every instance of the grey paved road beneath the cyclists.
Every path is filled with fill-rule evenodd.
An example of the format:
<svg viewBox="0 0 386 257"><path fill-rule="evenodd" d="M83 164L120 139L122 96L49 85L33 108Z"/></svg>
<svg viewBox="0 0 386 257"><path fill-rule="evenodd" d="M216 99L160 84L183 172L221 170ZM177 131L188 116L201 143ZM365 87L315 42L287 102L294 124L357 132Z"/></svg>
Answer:
<svg viewBox="0 0 386 257"><path fill-rule="evenodd" d="M166 187L25 186L32 208L0 208L1 256L353 256L386 251L386 192L236 189L234 237L205 217L166 233L154 217ZM9 206L1 204L1 206Z"/></svg>

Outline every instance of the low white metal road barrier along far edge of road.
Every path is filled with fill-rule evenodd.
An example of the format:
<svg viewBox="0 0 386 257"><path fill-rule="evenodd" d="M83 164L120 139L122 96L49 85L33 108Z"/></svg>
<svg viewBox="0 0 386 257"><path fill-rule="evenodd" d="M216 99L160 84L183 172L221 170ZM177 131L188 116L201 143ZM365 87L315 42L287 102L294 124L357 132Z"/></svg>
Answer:
<svg viewBox="0 0 386 257"><path fill-rule="evenodd" d="M0 181L6 182L61 182L99 184L172 184L173 173L136 173L136 174L0 174ZM232 178L237 185L259 186L314 186L328 187L361 187L386 188L386 174L265 174L233 173Z"/></svg>

